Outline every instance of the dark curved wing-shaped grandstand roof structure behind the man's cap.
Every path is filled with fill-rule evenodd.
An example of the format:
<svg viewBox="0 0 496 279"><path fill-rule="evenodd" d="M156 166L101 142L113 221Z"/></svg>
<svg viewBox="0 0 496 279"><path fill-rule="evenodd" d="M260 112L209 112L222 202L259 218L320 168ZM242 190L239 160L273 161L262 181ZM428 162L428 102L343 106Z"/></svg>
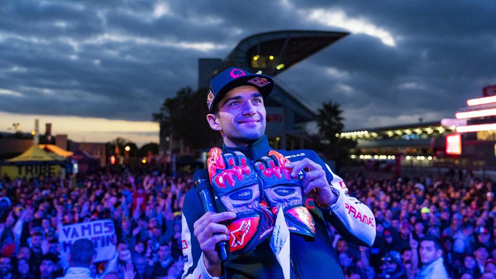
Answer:
<svg viewBox="0 0 496 279"><path fill-rule="evenodd" d="M251 35L238 43L212 75L230 67L239 67L275 77L348 34L335 31L281 30ZM314 120L316 112L302 99L276 80L266 105L283 105L291 109L296 113L295 123Z"/></svg>

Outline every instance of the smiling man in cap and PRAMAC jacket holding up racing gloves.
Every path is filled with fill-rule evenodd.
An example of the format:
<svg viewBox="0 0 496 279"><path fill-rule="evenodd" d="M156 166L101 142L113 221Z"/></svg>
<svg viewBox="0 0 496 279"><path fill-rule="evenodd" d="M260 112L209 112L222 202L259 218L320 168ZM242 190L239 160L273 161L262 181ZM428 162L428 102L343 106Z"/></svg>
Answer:
<svg viewBox="0 0 496 279"><path fill-rule="evenodd" d="M183 279L210 279L222 275L221 262L215 251L215 244L220 241L229 241L232 252L224 265L228 278L283 278L282 269L269 245L270 228L263 230L258 226L249 243L233 239L231 224L244 212L233 209L231 202L247 200L240 198L242 195L239 193L243 196L249 194L249 198L255 201L245 207L253 211L250 219L254 220L252 216L256 220L265 218L263 223L268 227L272 225L272 229L278 208L284 210L289 218L296 216L296 219L287 219L291 231L291 278L344 278L326 232L326 221L349 242L372 246L375 238L372 211L348 195L343 180L314 151L273 150L269 146L264 135L263 100L272 91L273 82L269 76L250 74L238 68L224 70L210 80L207 96L210 114L207 121L213 130L220 132L224 144L222 149L212 148L208 168L216 190L217 206L224 209L219 210L221 213L205 213L194 189L186 194L182 228ZM224 176L228 168L243 169L244 174L240 171L237 178L233 179L231 175L229 180L229 176ZM279 176L266 175L267 171L270 174L274 169L278 170ZM273 188L272 184L284 180L283 174L286 174L286 180L282 183L284 188ZM256 177L254 183L242 183L253 177ZM260 191L257 191L256 181L261 185ZM234 188L242 184L239 189L245 190L235 193L238 196L233 192L226 194L223 189L231 188L224 183ZM298 184L296 188L293 187L295 183ZM253 190L246 190L249 187ZM270 192L270 189L276 190ZM277 194L270 194L276 192L281 194L279 199L273 197ZM284 201L283 196L287 193L297 197L291 206ZM291 211L295 208L302 213L295 215ZM306 212L310 212L309 219L301 217L307 215ZM248 232L246 235L251 237Z"/></svg>

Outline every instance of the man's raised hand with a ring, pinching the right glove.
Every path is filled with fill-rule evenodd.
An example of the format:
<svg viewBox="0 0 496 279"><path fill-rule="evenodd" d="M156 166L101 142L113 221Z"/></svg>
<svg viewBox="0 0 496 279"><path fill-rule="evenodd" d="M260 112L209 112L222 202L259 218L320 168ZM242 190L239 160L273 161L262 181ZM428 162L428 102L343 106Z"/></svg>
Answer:
<svg viewBox="0 0 496 279"><path fill-rule="evenodd" d="M288 169L293 169L292 177L297 177L298 173L305 170L305 177L302 180L302 187L305 195L313 199L318 206L328 208L334 203L334 193L325 177L325 171L322 167L305 158L301 161L290 162L286 164Z"/></svg>

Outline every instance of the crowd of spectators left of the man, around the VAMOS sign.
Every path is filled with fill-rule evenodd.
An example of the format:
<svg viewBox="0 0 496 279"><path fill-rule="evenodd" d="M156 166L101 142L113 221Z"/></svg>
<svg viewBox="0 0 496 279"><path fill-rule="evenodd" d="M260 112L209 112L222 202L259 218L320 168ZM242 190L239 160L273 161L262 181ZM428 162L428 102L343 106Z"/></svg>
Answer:
<svg viewBox="0 0 496 279"><path fill-rule="evenodd" d="M94 278L181 278L181 209L190 187L190 177L156 171L4 177L0 197L8 197L10 205L0 220L0 279L63 276L68 262L61 259L58 228L101 219L114 222L117 253L90 266Z"/></svg>

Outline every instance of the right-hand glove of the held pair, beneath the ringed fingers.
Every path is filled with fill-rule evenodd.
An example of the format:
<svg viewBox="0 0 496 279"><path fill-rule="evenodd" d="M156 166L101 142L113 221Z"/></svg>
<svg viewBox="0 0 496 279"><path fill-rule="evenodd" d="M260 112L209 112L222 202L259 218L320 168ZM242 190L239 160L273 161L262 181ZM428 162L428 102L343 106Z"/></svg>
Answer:
<svg viewBox="0 0 496 279"><path fill-rule="evenodd" d="M282 206L291 232L315 237L315 223L302 203L300 179L291 177L291 170L285 166L289 160L281 153L270 150L269 156L255 162L255 170L262 180L265 201L274 215Z"/></svg>

